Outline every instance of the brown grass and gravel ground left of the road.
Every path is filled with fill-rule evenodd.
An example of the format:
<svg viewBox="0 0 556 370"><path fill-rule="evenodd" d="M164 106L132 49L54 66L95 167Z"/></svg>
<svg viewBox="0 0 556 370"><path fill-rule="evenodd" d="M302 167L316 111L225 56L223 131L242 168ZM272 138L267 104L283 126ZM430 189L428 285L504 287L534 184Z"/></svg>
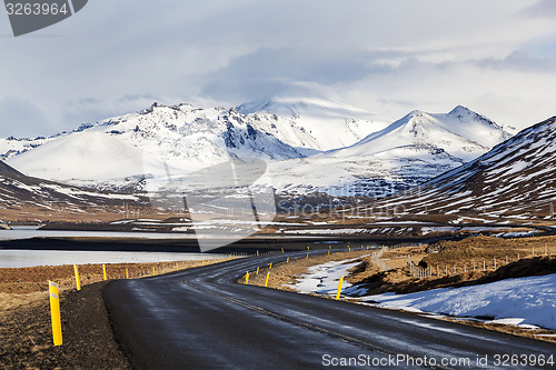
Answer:
<svg viewBox="0 0 556 370"><path fill-rule="evenodd" d="M218 260L207 260L206 264ZM107 278L130 278L202 266L202 261L106 264ZM128 369L108 320L102 266L0 269L0 369ZM53 347L48 280L60 287L63 344Z"/></svg>

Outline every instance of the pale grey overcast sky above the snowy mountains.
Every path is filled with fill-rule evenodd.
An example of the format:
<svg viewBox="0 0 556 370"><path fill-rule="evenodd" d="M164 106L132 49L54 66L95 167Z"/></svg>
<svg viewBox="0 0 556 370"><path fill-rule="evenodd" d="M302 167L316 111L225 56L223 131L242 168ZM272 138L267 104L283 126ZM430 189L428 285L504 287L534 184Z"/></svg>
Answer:
<svg viewBox="0 0 556 370"><path fill-rule="evenodd" d="M0 9L0 137L299 84L396 119L457 104L518 128L556 116L553 0L90 0L18 38Z"/></svg>

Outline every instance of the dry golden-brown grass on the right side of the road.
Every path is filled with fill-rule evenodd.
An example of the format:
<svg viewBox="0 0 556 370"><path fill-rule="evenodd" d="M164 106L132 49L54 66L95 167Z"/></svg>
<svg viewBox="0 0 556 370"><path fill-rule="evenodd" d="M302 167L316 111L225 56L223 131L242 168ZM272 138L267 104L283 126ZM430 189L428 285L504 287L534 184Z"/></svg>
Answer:
<svg viewBox="0 0 556 370"><path fill-rule="evenodd" d="M545 243L547 256L544 256ZM306 273L310 266L357 257L360 257L361 263L353 268L349 271L350 276L346 277L346 279L354 284L365 286L368 289L368 293L393 291L408 293L439 287L461 287L515 277L556 273L556 237L512 240L494 237L475 237L463 241L443 242L436 247L439 250L435 252L430 252L430 250L427 252L427 247L405 247L385 251L381 259L391 269L389 271L380 271L373 262L373 259L368 256L366 257L369 251L354 250L351 252L334 253L332 256L294 260L290 263L279 263L272 267L271 270L264 268L259 270L258 276L250 276L249 283L264 286L266 273L270 271L269 288L292 291L287 284L294 283L296 278ZM507 264L506 256L508 256ZM439 277L436 277L436 273L434 273L430 278L415 278L407 268L408 257L416 264L421 262L425 266L449 266L448 274L441 271ZM517 257L519 257L519 261L517 261ZM496 271L494 270L495 258L497 259ZM485 260L485 271L481 269L483 260ZM473 263L476 267L475 271L473 271ZM456 272L454 272L454 266L456 266ZM464 269L466 272L464 272ZM436 269L433 269L433 271L436 272ZM239 282L245 282L245 280L240 280ZM457 321L488 330L556 342L556 338L554 337L543 337L543 334L553 336L555 331L552 330L530 330L515 326L487 323L459 318L444 318L443 320Z"/></svg>

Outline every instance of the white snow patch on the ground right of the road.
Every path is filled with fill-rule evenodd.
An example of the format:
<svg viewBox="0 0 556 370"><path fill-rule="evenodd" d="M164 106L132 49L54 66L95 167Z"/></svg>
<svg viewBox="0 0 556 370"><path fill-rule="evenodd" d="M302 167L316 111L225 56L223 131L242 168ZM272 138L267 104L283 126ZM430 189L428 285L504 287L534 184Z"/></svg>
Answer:
<svg viewBox="0 0 556 370"><path fill-rule="evenodd" d="M310 267L297 282L286 284L297 292L335 296L340 277L357 266L360 258L331 261ZM342 294L359 296L363 303L439 316L492 318L487 322L522 328L556 330L556 273L543 277L507 279L464 288L440 288L396 294L365 296L366 289L344 282Z"/></svg>

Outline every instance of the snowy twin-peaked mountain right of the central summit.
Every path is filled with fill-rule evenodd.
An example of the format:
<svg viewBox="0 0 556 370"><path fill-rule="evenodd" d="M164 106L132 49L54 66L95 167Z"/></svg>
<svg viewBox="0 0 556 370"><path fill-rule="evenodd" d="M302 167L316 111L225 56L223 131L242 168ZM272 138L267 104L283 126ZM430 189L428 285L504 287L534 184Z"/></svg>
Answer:
<svg viewBox="0 0 556 370"><path fill-rule="evenodd" d="M512 133L464 107L414 111L350 147L270 164L278 191L383 197L473 160Z"/></svg>

